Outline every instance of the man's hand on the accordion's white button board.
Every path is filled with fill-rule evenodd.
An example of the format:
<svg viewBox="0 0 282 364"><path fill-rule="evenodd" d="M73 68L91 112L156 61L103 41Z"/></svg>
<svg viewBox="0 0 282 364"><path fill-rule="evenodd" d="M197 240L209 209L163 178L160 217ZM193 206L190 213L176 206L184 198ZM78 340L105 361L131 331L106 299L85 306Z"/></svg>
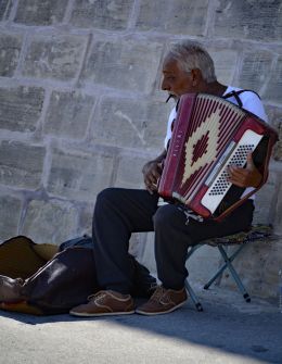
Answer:
<svg viewBox="0 0 282 364"><path fill-rule="evenodd" d="M230 166L229 181L239 187L258 187L261 183L261 174L255 166L252 153L247 155L247 164L244 168Z"/></svg>

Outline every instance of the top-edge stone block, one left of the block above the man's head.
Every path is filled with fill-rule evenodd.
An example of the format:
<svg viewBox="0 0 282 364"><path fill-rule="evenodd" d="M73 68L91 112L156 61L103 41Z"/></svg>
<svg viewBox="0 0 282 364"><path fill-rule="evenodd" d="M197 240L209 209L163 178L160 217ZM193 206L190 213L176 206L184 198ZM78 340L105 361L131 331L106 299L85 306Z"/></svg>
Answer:
<svg viewBox="0 0 282 364"><path fill-rule="evenodd" d="M125 29L132 5L133 0L76 0L70 23L82 28Z"/></svg>

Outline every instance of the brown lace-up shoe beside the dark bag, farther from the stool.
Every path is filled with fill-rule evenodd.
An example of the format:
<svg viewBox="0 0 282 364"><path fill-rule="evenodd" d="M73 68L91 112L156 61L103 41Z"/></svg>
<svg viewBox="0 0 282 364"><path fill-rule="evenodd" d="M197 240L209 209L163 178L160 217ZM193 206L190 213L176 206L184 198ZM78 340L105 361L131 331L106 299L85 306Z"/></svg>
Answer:
<svg viewBox="0 0 282 364"><path fill-rule="evenodd" d="M128 315L134 313L133 300L130 294L115 291L99 291L89 296L89 302L69 311L75 316Z"/></svg>

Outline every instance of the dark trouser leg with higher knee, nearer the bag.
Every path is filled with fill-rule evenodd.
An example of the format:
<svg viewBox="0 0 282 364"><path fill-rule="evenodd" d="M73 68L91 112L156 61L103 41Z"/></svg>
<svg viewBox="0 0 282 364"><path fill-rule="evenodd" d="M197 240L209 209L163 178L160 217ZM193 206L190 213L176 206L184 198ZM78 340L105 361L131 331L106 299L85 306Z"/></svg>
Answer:
<svg viewBox="0 0 282 364"><path fill-rule="evenodd" d="M108 188L99 193L93 215L98 281L104 289L128 293L133 265L128 248L131 233L152 231L158 197L145 190Z"/></svg>

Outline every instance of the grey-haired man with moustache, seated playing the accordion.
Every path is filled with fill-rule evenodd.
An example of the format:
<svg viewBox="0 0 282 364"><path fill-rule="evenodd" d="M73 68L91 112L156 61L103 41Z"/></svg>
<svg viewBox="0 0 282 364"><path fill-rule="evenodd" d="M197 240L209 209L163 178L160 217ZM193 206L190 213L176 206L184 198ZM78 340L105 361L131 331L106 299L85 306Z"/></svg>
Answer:
<svg viewBox="0 0 282 364"><path fill-rule="evenodd" d="M187 92L205 92L227 97L233 103L266 120L264 106L255 92L239 92L217 81L214 62L197 43L184 41L175 45L167 53L163 66L162 89L175 98ZM188 276L185 255L188 248L211 237L220 237L245 229L252 223L254 204L248 199L233 213L218 223L213 219L187 221L183 209L169 203L157 205L157 180L162 162L166 158L174 109L169 116L165 150L142 170L146 190L108 188L97 199L93 215L93 241L97 275L104 290L91 297L87 304L74 307L77 316L115 314L155 315L171 312L187 301L184 280ZM240 187L257 187L261 180L259 171L248 155L245 168L231 167L230 181ZM134 311L129 294L132 286L132 266L128 258L131 233L155 231L155 259L162 286L151 299Z"/></svg>

